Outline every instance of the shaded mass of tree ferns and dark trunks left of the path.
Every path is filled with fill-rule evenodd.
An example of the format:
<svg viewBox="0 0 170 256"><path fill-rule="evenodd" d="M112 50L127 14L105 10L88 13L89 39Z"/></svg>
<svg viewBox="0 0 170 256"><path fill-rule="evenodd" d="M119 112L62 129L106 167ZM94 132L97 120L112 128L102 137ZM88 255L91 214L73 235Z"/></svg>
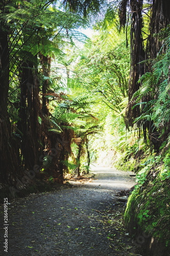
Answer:
<svg viewBox="0 0 170 256"><path fill-rule="evenodd" d="M35 175L63 182L64 161L77 136L74 122L90 118L87 97L67 95L60 72L67 73L66 46L87 38L78 30L87 25L84 3L74 13L64 3L66 10L56 1L0 4L1 188L11 185L14 193L31 185ZM84 16L94 7L99 3L89 1Z"/></svg>

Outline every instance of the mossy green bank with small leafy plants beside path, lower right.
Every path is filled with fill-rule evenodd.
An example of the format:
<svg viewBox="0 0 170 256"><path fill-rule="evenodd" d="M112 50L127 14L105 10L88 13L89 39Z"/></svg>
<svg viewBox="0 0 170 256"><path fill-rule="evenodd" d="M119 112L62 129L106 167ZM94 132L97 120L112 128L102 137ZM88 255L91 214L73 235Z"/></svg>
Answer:
<svg viewBox="0 0 170 256"><path fill-rule="evenodd" d="M141 164L137 185L129 197L125 211L127 229L135 236L149 234L170 248L170 149L150 156Z"/></svg>

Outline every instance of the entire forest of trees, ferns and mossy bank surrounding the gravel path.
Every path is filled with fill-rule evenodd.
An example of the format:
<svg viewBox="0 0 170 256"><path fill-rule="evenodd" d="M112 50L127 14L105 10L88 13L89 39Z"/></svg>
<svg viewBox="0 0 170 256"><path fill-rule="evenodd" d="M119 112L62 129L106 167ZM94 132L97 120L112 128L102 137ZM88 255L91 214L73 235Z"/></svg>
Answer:
<svg viewBox="0 0 170 256"><path fill-rule="evenodd" d="M137 173L131 233L169 248L168 1L13 0L0 16L2 196L105 159Z"/></svg>

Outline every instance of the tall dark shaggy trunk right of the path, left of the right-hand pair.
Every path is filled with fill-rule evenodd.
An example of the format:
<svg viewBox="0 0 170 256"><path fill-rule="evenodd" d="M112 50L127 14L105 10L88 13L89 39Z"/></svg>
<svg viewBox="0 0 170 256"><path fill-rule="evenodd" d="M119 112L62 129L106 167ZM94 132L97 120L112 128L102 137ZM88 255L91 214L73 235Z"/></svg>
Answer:
<svg viewBox="0 0 170 256"><path fill-rule="evenodd" d="M133 121L140 116L140 106L132 109L134 101L133 94L139 89L138 83L141 75L144 74L144 64L140 63L145 59L145 52L142 38L142 0L131 1L131 71L129 78L129 106L127 110L128 122L133 126Z"/></svg>

